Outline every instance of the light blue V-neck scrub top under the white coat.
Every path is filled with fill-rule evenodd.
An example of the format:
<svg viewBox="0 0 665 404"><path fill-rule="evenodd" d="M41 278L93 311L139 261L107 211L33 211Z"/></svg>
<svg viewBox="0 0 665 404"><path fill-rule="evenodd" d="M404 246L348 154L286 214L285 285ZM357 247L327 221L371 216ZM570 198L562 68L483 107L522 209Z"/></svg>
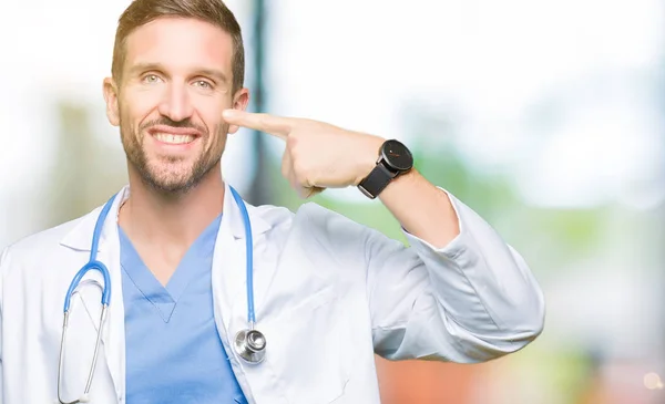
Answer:
<svg viewBox="0 0 665 404"><path fill-rule="evenodd" d="M213 315L212 261L222 217L166 287L119 226L125 308L126 403L246 403Z"/></svg>

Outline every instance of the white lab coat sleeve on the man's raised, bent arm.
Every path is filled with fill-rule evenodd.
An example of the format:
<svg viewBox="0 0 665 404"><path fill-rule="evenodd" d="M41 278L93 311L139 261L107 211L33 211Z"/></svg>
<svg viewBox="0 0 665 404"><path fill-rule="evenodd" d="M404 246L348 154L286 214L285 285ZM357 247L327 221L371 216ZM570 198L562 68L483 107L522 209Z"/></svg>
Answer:
<svg viewBox="0 0 665 404"><path fill-rule="evenodd" d="M543 293L525 261L448 196L460 234L444 248L406 231L410 247L378 232L366 239L375 352L386 359L483 362L542 332Z"/></svg>

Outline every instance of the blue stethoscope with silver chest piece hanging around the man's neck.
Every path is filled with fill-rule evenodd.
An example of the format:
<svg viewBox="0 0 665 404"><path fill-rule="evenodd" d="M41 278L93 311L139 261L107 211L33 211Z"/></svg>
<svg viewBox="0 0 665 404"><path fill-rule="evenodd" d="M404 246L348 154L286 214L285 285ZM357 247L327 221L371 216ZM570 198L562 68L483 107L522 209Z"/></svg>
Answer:
<svg viewBox="0 0 665 404"><path fill-rule="evenodd" d="M243 216L243 221L245 225L245 251L246 251L246 283L247 283L247 322L249 324L248 329L241 330L236 333L235 339L233 341L234 351L237 353L241 359L243 359L248 364L257 364L260 363L266 355L266 338L260 332L254 329L254 324L256 322L254 315L254 247L252 240L252 224L249 221L249 214L247 213L247 207L245 203L238 195L238 193L229 186L231 194L235 199L238 208L241 209L241 214ZM76 404L76 403L88 403L90 401L90 387L92 385L92 377L94 375L94 369L96 366L98 354L100 351L100 342L102 339L102 328L104 325L104 321L106 319L106 312L109 309L109 304L111 302L111 274L106 266L96 259L98 247L100 242L100 237L102 235L102 228L104 226L104 221L106 216L109 215L109 210L111 210L111 206L113 205L113 200L115 196L111 197L109 201L102 208L100 216L98 217L96 224L94 226L94 232L92 234L92 246L90 248L90 260L88 263L83 266L79 270L79 272L72 279L72 282L66 291L66 296L64 297L64 320L62 323L62 339L60 340L60 356L58 361L58 401L60 404ZM60 379L62 374L62 359L64 354L64 341L66 335L66 327L69 322L69 313L70 313L70 303L72 297L78 293L76 288L79 283L90 270L98 270L102 273L104 278L104 287L102 290L102 312L100 314L100 327L98 329L96 342L94 345L94 354L92 356L92 365L90 367L90 372L88 373L88 381L85 382L85 390L83 395L75 401L65 402L60 397ZM100 286L101 288L101 286Z"/></svg>

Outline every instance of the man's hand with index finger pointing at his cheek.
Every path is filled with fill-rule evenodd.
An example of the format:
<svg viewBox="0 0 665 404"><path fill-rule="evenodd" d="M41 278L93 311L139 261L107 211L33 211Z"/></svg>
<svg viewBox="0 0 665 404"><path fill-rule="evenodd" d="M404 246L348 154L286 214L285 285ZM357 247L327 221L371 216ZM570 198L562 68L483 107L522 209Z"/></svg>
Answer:
<svg viewBox="0 0 665 404"><path fill-rule="evenodd" d="M286 148L282 175L303 198L325 188L357 186L376 166L379 136L327 123L226 110L224 121L279 137Z"/></svg>

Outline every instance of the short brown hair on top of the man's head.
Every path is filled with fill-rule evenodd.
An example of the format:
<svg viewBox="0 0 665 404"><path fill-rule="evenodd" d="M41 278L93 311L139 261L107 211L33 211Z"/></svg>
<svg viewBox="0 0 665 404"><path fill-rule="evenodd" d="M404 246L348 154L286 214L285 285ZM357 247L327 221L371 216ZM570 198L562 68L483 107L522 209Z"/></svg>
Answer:
<svg viewBox="0 0 665 404"><path fill-rule="evenodd" d="M245 80L245 49L243 34L233 12L222 0L134 0L122 13L115 31L111 74L120 83L125 58L126 38L139 27L162 17L193 18L209 22L233 39L233 92L243 87Z"/></svg>

